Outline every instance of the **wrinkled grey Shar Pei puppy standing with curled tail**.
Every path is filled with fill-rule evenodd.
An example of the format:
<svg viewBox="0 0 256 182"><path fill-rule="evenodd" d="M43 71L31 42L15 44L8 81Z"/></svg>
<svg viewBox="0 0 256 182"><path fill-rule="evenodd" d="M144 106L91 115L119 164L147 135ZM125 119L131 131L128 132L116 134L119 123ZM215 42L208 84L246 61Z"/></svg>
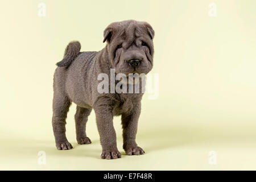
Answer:
<svg viewBox="0 0 256 182"><path fill-rule="evenodd" d="M80 52L79 42L68 44L64 59L57 63L53 79L52 126L58 150L73 148L65 135L65 119L71 102L74 102L77 105L75 122L79 144L91 143L86 136L85 126L94 109L102 159L121 158L113 126L115 115L121 115L126 154L144 154L135 142L143 93L99 93L97 86L100 81L97 77L101 73L110 77L110 69L114 69L115 74L125 75L150 72L154 54L153 38L154 30L150 24L126 20L112 23L105 29L103 42L107 44L99 52Z"/></svg>

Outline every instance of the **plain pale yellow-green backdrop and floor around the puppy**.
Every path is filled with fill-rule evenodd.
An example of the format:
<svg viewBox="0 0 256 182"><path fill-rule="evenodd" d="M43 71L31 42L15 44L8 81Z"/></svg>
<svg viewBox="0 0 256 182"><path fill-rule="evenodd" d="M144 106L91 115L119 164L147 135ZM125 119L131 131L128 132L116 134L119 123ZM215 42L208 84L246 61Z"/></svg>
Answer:
<svg viewBox="0 0 256 182"><path fill-rule="evenodd" d="M46 3L46 17L38 4ZM208 16L216 3L217 17ZM255 1L1 1L0 169L256 169ZM67 118L74 149L53 140L52 78L71 40L98 51L109 23L144 20L155 30L152 73L159 97L142 101L137 142L146 155L100 159L95 115L76 143L75 105ZM120 118L114 119L123 154ZM209 151L217 165L208 164ZM46 151L46 165L38 152Z"/></svg>

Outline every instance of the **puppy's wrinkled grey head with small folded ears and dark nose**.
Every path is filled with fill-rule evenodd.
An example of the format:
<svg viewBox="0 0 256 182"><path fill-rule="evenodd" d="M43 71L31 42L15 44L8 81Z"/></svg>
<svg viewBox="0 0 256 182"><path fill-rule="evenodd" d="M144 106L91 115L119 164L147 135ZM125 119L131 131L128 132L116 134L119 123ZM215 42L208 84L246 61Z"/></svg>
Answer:
<svg viewBox="0 0 256 182"><path fill-rule="evenodd" d="M152 69L154 30L146 22L127 20L110 24L104 31L104 42L115 73L145 73Z"/></svg>

